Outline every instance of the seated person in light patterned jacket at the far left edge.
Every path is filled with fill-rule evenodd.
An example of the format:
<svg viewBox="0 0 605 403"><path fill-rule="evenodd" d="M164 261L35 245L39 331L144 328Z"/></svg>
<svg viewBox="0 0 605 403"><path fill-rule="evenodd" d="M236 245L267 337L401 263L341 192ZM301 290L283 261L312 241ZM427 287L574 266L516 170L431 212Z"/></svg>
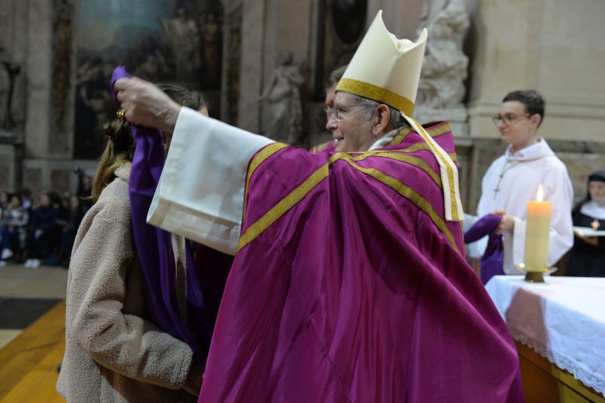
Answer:
<svg viewBox="0 0 605 403"><path fill-rule="evenodd" d="M13 247L18 250L25 249L25 237L27 236L27 222L29 214L22 207L21 196L12 195L10 205L2 210L2 260L0 266L4 266L5 259L13 256Z"/></svg>

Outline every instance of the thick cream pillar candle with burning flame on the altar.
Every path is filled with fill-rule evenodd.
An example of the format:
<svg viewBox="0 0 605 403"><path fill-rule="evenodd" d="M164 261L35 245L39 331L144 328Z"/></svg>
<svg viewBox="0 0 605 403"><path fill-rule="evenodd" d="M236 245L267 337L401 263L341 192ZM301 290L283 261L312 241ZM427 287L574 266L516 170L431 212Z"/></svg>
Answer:
<svg viewBox="0 0 605 403"><path fill-rule="evenodd" d="M551 232L552 203L542 201L542 185L537 201L528 201L525 227L525 271L548 270L548 241Z"/></svg>

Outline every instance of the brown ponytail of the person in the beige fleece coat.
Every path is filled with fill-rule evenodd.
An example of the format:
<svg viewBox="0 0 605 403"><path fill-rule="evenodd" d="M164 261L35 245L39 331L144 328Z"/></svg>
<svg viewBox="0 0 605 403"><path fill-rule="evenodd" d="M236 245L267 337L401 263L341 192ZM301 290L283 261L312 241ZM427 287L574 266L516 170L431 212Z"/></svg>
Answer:
<svg viewBox="0 0 605 403"><path fill-rule="evenodd" d="M130 124L126 120L115 119L105 123L103 132L107 136L107 145L99 161L99 168L94 175L90 199L93 203L99 200L103 189L116 177L114 172L122 164L132 162L136 144L132 138Z"/></svg>

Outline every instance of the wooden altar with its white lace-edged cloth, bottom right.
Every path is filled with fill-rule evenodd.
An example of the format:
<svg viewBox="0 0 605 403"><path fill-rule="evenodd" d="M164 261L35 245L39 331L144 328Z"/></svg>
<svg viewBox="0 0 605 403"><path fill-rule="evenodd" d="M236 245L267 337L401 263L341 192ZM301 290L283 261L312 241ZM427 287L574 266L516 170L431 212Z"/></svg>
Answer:
<svg viewBox="0 0 605 403"><path fill-rule="evenodd" d="M520 357L527 403L605 403L605 278L495 276L485 288Z"/></svg>

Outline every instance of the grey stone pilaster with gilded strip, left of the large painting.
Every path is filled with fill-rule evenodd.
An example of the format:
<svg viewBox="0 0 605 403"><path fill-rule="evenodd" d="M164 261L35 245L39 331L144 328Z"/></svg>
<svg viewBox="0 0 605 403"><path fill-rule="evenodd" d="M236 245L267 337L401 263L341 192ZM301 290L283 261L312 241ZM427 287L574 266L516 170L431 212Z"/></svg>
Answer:
<svg viewBox="0 0 605 403"><path fill-rule="evenodd" d="M8 28L2 25L7 30L2 39L21 64L22 76L15 107L23 124L13 150L1 152L13 161L8 185L15 191L28 187L34 195L45 188L73 190L73 0L4 0L2 6L11 16ZM58 57L64 63L57 63Z"/></svg>

